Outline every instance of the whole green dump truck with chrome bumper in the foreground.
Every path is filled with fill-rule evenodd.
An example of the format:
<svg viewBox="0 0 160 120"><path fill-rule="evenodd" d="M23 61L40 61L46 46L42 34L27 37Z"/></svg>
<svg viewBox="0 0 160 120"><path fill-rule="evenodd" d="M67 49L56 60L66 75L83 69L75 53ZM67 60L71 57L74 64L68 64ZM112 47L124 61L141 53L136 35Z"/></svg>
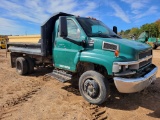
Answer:
<svg viewBox="0 0 160 120"><path fill-rule="evenodd" d="M121 93L134 93L156 80L152 48L122 39L94 18L57 13L41 26L39 43L7 44L11 66L27 75L36 66L52 65L48 75L79 86L88 102L101 104L114 83Z"/></svg>

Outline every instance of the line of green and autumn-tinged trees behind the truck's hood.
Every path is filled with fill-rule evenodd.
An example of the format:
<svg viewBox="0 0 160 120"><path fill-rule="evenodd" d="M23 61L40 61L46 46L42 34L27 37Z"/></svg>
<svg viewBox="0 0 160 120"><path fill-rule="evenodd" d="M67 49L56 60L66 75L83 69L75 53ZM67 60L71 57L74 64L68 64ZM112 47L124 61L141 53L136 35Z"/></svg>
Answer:
<svg viewBox="0 0 160 120"><path fill-rule="evenodd" d="M154 23L144 24L140 28L133 27L125 31L121 30L118 34L122 38L131 39L134 36L137 39L139 35L144 31L148 31L151 37L159 38L160 37L160 19L155 21Z"/></svg>

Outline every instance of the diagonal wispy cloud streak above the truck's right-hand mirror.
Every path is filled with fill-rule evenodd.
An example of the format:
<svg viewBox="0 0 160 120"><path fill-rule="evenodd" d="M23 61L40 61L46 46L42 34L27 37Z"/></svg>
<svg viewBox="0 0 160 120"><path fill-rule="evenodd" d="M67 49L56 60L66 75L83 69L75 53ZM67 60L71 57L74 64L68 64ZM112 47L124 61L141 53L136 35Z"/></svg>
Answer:
<svg viewBox="0 0 160 120"><path fill-rule="evenodd" d="M108 5L110 5L114 9L114 11L115 11L114 15L116 17L119 17L123 21L130 23L130 19L129 19L128 15L123 11L123 9L117 3L110 2Z"/></svg>

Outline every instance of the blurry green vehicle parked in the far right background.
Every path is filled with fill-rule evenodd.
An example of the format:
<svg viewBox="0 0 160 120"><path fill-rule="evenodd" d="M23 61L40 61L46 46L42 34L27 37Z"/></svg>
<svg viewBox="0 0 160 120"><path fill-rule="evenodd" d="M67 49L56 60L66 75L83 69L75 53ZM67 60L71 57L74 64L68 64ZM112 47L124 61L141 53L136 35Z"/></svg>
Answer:
<svg viewBox="0 0 160 120"><path fill-rule="evenodd" d="M153 49L157 49L160 46L160 39L153 37L149 34L149 31L144 31L140 34L137 41L149 44Z"/></svg>

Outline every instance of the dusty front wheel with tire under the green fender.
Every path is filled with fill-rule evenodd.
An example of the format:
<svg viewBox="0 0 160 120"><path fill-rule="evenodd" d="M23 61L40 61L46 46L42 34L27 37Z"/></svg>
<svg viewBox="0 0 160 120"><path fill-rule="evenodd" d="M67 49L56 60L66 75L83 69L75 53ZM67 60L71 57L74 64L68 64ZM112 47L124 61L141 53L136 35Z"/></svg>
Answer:
<svg viewBox="0 0 160 120"><path fill-rule="evenodd" d="M102 74L87 71L79 79L79 90L89 103L102 104L109 96L109 83Z"/></svg>

